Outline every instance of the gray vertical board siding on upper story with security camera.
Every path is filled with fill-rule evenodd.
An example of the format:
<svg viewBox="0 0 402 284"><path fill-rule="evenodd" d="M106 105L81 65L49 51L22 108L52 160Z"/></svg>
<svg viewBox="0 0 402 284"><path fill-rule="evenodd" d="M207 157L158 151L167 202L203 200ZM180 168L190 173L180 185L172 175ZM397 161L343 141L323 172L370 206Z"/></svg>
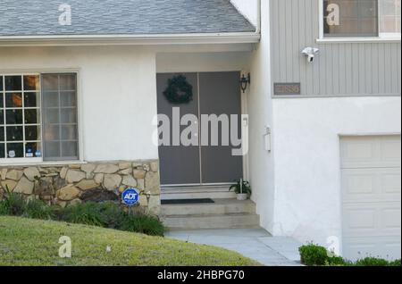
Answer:
<svg viewBox="0 0 402 284"><path fill-rule="evenodd" d="M400 42L316 43L319 1L270 1L273 82L300 82L302 96L400 96ZM313 64L306 46L320 48Z"/></svg>

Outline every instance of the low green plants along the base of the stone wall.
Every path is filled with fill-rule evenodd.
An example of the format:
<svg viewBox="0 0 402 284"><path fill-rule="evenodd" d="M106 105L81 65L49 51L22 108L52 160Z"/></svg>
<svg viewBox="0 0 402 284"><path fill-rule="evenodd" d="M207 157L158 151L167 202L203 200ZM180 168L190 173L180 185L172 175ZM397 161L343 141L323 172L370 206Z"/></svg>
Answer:
<svg viewBox="0 0 402 284"><path fill-rule="evenodd" d="M125 213L113 202L71 205L66 208L46 205L40 200L6 192L0 201L0 215L22 216L31 219L66 221L115 230L138 232L150 236L164 234L163 223L155 216L144 213Z"/></svg>

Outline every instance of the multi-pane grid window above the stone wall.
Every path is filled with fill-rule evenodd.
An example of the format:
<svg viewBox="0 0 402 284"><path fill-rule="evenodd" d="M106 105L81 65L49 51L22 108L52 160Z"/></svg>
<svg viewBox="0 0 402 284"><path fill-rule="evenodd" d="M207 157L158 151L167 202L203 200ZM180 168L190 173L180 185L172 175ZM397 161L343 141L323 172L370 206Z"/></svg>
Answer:
<svg viewBox="0 0 402 284"><path fill-rule="evenodd" d="M78 159L77 75L0 73L0 163Z"/></svg>

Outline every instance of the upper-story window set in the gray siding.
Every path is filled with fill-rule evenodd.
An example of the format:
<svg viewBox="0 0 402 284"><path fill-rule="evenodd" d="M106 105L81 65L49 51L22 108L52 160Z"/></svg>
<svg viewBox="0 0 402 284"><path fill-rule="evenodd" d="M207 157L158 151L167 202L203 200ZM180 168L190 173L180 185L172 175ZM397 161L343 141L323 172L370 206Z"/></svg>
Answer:
<svg viewBox="0 0 402 284"><path fill-rule="evenodd" d="M401 0L322 0L320 38L400 38Z"/></svg>

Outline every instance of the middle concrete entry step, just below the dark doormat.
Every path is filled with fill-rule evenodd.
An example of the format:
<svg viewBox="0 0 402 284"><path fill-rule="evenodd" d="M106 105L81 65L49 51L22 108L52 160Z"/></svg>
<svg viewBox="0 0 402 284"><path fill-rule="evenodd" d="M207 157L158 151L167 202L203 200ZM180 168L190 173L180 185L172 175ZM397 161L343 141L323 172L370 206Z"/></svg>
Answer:
<svg viewBox="0 0 402 284"><path fill-rule="evenodd" d="M255 204L251 200L214 199L214 202L214 204L162 205L162 215L255 213Z"/></svg>

